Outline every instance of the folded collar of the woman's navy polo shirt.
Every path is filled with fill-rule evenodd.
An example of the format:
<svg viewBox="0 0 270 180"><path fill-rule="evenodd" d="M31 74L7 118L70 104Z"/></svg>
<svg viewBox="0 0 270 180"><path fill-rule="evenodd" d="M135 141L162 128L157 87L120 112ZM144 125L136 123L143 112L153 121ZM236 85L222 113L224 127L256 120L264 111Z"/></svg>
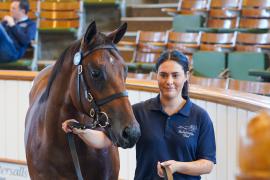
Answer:
<svg viewBox="0 0 270 180"><path fill-rule="evenodd" d="M176 114L181 114L184 116L189 116L190 111L191 111L191 107L192 107L192 103L189 99L189 97L186 97L186 103L184 104L184 106L176 113ZM160 103L160 94L158 94L155 98L153 98L151 100L150 106L149 106L150 110L153 111L163 111L161 103Z"/></svg>

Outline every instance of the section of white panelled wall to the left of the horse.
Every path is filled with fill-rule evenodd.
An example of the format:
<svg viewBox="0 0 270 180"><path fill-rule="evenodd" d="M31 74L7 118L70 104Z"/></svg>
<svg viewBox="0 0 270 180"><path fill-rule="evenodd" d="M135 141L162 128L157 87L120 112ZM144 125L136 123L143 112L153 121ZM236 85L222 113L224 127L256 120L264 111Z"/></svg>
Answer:
<svg viewBox="0 0 270 180"><path fill-rule="evenodd" d="M0 157L25 160L24 118L29 81L0 80Z"/></svg>

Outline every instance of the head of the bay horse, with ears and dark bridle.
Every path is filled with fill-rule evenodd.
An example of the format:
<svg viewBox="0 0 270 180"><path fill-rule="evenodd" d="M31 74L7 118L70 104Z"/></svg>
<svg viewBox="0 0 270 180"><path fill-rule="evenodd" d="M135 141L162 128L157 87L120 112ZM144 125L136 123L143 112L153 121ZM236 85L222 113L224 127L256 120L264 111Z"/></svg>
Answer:
<svg viewBox="0 0 270 180"><path fill-rule="evenodd" d="M109 35L97 32L92 22L74 54L71 98L74 106L105 126L114 144L123 148L134 146L140 137L139 124L127 97L127 67L115 47L127 29L123 24Z"/></svg>

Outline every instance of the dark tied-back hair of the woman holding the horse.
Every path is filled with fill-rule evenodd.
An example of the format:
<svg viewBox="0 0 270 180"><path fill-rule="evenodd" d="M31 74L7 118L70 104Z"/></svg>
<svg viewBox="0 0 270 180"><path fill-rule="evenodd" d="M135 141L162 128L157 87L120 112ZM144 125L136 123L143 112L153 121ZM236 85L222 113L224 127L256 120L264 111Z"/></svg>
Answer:
<svg viewBox="0 0 270 180"><path fill-rule="evenodd" d="M180 64L183 67L185 75L187 75L187 72L189 71L189 61L187 56L185 56L182 52L177 50L172 51L165 51L160 55L158 58L155 70L158 71L159 66L164 63L165 61L175 61L178 64ZM182 89L182 97L188 97L188 81L184 83L183 89Z"/></svg>

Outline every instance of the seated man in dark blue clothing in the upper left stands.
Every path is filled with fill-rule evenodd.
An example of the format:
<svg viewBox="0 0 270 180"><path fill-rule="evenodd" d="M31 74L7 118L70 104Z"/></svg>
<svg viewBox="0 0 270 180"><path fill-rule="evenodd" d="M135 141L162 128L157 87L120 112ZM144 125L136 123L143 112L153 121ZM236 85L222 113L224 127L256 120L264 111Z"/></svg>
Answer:
<svg viewBox="0 0 270 180"><path fill-rule="evenodd" d="M35 38L36 23L28 18L28 11L27 0L14 0L11 3L11 16L4 16L0 24L0 63L21 58Z"/></svg>

